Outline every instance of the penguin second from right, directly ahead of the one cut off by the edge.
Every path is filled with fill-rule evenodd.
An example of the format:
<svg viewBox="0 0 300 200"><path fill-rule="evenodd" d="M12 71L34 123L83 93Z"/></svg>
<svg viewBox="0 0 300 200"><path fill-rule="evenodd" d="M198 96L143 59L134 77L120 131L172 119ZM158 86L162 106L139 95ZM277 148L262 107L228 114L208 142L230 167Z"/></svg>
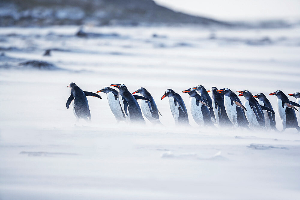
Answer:
<svg viewBox="0 0 300 200"><path fill-rule="evenodd" d="M284 131L286 128L296 128L298 131L300 131L295 114L295 110L297 112L298 110L292 104L298 107L300 107L300 105L295 102L291 103L289 98L281 90L277 90L269 95L275 95L277 97L277 108L283 126L282 131Z"/></svg>

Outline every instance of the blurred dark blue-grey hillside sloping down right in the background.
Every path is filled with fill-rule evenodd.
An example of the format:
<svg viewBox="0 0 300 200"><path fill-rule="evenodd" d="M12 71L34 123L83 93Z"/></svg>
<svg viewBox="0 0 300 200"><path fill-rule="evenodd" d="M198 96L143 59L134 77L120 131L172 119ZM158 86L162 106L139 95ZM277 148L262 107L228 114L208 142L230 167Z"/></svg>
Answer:
<svg viewBox="0 0 300 200"><path fill-rule="evenodd" d="M152 0L2 0L0 26L199 24L230 26L174 12Z"/></svg>

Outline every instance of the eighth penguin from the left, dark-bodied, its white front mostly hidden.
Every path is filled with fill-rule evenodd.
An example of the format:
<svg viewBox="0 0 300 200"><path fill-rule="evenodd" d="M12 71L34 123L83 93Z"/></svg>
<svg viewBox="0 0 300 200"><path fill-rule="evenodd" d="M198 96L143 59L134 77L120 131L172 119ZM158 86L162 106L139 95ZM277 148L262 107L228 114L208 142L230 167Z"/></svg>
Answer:
<svg viewBox="0 0 300 200"><path fill-rule="evenodd" d="M214 110L214 116L216 118L217 125L219 127L232 125L225 110L224 99L220 95L222 93L217 92L216 87L212 87L207 92L211 92L212 94L211 103L212 103L212 109Z"/></svg>

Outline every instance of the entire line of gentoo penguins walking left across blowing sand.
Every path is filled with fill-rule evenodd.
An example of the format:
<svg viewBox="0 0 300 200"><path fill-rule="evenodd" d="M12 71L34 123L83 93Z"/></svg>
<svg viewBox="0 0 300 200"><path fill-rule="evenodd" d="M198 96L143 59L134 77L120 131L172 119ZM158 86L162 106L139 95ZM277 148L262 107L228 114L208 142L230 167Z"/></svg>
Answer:
<svg viewBox="0 0 300 200"><path fill-rule="evenodd" d="M161 124L159 115L161 113L155 104L151 94L145 88L139 88L131 93L124 84L112 84L118 88L119 92L110 87L104 87L97 91L107 95L108 104L115 115L116 120L145 124L144 116L152 124ZM96 93L82 91L75 83L71 82L67 87L70 88L70 97L67 100L67 109L73 105L73 112L77 121L83 118L91 121L91 113L88 107L86 96L94 96L101 99ZM212 87L206 90L202 85L188 88L182 91L190 96L190 111L195 122L201 126L217 127L240 127L252 130L267 129L276 130L275 112L270 101L263 93L252 95L250 91L237 91L238 96L244 96L244 105L239 97L228 88L217 89ZM139 93L140 95L134 95ZM210 97L209 93L212 94ZM300 118L300 93L288 94L296 98L296 102L289 98L280 90L269 95L277 97L277 108L282 121L283 131L286 128L300 127L296 117L296 112ZM161 97L169 98L170 109L176 125L189 125L187 109L182 97L172 89L167 89ZM256 100L257 99L257 100ZM140 101L140 105L137 102ZM296 111L296 112L295 112ZM161 115L162 116L162 115Z"/></svg>

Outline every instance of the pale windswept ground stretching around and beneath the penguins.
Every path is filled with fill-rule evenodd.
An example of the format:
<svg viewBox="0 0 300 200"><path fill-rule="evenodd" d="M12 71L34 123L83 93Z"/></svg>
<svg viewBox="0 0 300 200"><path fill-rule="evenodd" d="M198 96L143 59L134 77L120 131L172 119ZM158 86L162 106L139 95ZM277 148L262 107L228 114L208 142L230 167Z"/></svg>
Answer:
<svg viewBox="0 0 300 200"><path fill-rule="evenodd" d="M181 93L196 85L299 92L299 27L85 27L96 33L88 37L78 30L0 29L0 199L299 198L295 129L200 128ZM51 56L42 56L46 49ZM57 68L19 65L28 60ZM65 106L70 82L92 92L144 87L164 126L116 124L102 93L88 97L92 123L76 123ZM192 127L174 126L168 100L160 100L168 88L182 96ZM281 130L276 97L268 98Z"/></svg>

